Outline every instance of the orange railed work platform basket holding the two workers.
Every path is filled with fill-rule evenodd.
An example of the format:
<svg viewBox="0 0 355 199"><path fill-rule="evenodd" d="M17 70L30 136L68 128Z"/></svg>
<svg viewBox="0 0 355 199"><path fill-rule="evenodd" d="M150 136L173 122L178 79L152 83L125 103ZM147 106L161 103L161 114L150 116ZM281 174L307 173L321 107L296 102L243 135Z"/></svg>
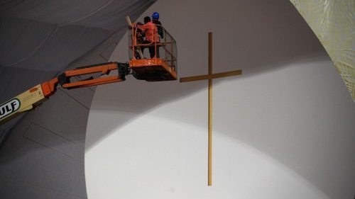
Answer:
<svg viewBox="0 0 355 199"><path fill-rule="evenodd" d="M168 31L156 25L154 31L159 38L147 43L139 26L133 23L132 27L129 31L129 67L133 76L146 81L178 79L176 41Z"/></svg>

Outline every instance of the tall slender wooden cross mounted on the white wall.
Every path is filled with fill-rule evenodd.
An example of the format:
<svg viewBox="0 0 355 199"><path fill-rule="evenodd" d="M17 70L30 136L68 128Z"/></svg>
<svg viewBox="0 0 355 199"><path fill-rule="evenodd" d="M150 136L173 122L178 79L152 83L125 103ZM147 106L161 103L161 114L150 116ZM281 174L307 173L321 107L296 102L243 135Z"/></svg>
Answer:
<svg viewBox="0 0 355 199"><path fill-rule="evenodd" d="M208 74L180 78L180 82L199 81L208 79L208 186L212 186L212 79L235 76L241 74L241 70L212 73L212 32L208 33Z"/></svg>

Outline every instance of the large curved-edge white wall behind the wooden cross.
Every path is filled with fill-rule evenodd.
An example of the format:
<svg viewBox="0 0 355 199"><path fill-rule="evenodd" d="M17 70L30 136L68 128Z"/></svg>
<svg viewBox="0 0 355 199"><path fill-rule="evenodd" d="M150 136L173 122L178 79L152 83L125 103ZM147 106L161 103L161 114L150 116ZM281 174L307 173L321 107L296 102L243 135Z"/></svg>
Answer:
<svg viewBox="0 0 355 199"><path fill-rule="evenodd" d="M207 73L214 33L213 186L207 81L99 86L87 125L88 198L354 198L355 106L288 1L157 1L179 76ZM128 57L126 37L111 61Z"/></svg>

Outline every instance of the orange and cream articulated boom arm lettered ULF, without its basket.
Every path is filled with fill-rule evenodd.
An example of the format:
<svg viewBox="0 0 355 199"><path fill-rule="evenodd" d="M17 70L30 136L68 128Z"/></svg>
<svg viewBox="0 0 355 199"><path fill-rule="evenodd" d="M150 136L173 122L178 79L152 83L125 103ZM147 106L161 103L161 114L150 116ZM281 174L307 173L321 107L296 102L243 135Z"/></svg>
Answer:
<svg viewBox="0 0 355 199"><path fill-rule="evenodd" d="M105 76L113 70L118 70L118 76ZM20 113L28 110L33 110L36 106L39 106L43 101L47 100L49 96L52 96L58 87L64 89L77 89L87 86L95 86L100 84L109 84L126 80L126 75L130 72L129 64L119 62L109 62L104 64L97 64L87 67L80 67L77 69L63 72L59 76L45 81L43 84L38 84L11 98L6 103L0 105L0 125L6 123L11 118L16 117ZM100 74L97 74L100 73ZM71 82L70 78L74 76L80 76L83 74L97 74L87 79Z"/></svg>

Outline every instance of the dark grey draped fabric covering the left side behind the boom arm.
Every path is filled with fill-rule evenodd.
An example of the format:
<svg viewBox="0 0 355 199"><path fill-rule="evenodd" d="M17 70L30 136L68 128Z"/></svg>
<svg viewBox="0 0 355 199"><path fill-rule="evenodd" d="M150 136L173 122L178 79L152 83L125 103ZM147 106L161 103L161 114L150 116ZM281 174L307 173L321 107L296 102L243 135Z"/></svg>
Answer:
<svg viewBox="0 0 355 199"><path fill-rule="evenodd" d="M103 57L126 32L124 17L135 21L152 3L1 1L0 101L65 68L107 62ZM93 93L94 87L59 90L43 106L0 126L1 135L9 135L0 145L0 198L87 198L82 162Z"/></svg>

